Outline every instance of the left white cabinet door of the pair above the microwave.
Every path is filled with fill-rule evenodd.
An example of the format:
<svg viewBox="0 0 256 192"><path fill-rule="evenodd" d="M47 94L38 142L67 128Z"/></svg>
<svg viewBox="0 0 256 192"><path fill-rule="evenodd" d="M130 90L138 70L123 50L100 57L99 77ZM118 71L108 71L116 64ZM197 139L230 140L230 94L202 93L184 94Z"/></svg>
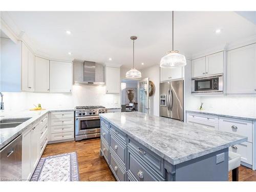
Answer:
<svg viewBox="0 0 256 192"><path fill-rule="evenodd" d="M191 61L191 77L205 75L205 57L200 57Z"/></svg>

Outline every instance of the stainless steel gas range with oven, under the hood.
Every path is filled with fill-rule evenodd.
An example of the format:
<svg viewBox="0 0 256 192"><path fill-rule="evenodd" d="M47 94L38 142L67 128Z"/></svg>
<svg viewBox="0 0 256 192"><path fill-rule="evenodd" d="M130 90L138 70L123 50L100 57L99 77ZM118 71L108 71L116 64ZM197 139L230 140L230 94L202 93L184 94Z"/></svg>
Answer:
<svg viewBox="0 0 256 192"><path fill-rule="evenodd" d="M106 113L104 106L76 106L75 140L100 137L100 113Z"/></svg>

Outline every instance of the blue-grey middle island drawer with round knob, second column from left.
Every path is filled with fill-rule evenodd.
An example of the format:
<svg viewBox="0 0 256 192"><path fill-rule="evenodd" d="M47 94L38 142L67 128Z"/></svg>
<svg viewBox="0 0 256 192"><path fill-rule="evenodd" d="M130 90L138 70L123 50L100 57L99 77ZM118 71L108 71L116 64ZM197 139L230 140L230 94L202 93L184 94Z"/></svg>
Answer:
<svg viewBox="0 0 256 192"><path fill-rule="evenodd" d="M126 146L123 144L115 135L110 135L110 147L111 147L111 153L115 153L116 156L118 156L123 164L125 166L125 157L126 157Z"/></svg>

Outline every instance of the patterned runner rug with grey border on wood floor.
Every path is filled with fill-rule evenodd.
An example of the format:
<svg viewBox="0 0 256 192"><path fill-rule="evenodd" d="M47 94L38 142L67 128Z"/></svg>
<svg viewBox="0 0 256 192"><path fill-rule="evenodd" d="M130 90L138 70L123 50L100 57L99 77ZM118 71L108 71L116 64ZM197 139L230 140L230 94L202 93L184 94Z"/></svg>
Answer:
<svg viewBox="0 0 256 192"><path fill-rule="evenodd" d="M41 158L30 181L79 181L76 152Z"/></svg>

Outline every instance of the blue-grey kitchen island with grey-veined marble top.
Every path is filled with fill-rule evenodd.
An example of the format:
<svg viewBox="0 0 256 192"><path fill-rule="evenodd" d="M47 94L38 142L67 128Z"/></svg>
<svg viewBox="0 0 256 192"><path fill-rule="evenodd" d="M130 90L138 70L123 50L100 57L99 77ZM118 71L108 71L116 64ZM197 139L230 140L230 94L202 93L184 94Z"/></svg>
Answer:
<svg viewBox="0 0 256 192"><path fill-rule="evenodd" d="M100 114L118 181L227 181L228 147L247 137L140 112Z"/></svg>

